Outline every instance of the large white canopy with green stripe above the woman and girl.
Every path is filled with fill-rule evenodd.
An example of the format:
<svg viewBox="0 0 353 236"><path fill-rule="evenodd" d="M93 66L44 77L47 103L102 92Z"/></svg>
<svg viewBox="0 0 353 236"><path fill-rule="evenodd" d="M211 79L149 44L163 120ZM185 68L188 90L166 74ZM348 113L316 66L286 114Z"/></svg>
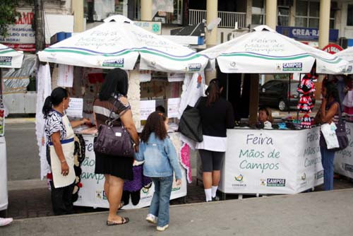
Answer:
<svg viewBox="0 0 353 236"><path fill-rule="evenodd" d="M188 47L144 30L124 16L56 43L38 53L40 61L94 68L132 70L140 56L140 69L166 72L202 71L208 59Z"/></svg>

